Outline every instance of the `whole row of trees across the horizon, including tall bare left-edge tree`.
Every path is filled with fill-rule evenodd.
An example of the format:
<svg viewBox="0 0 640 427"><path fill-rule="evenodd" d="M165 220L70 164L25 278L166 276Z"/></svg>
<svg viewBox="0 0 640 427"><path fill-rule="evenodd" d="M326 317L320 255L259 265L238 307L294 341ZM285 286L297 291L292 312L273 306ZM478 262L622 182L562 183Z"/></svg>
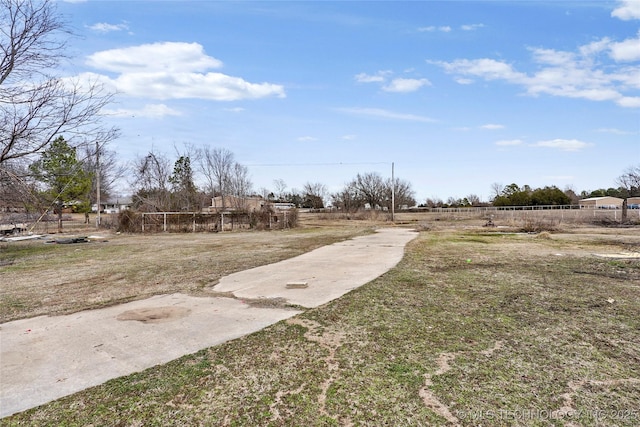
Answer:
<svg viewBox="0 0 640 427"><path fill-rule="evenodd" d="M125 176L130 177L134 208L143 211L195 211L210 206L216 196L223 207L240 207L232 205L247 197L313 209L330 203L346 212L416 205L411 183L375 172L358 173L332 194L320 182L287 191L281 179L274 180L274 190L255 191L248 168L225 148L187 147L174 161L151 151L121 165L108 148L119 130L104 126L100 114L113 94L95 81L52 74L65 58L65 37L71 35L55 2L0 0L0 25L0 209L51 209L59 218L64 207L87 212L98 192L101 200L108 199ZM420 205L565 205L597 196L626 200L640 196L640 165L629 167L616 184L580 195L555 186L493 184L487 202L470 194L446 202L427 199Z"/></svg>

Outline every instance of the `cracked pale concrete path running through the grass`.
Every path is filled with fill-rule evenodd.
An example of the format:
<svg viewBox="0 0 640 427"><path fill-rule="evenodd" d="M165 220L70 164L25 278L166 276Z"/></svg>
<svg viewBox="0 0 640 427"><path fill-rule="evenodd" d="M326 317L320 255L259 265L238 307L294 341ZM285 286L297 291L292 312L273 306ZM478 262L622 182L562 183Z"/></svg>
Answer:
<svg viewBox="0 0 640 427"><path fill-rule="evenodd" d="M238 298L316 307L395 266L417 233L388 228L223 278ZM290 284L297 289L289 289ZM304 285L303 285L304 284ZM301 286L306 288L300 288ZM258 331L299 314L181 294L0 325L0 417Z"/></svg>

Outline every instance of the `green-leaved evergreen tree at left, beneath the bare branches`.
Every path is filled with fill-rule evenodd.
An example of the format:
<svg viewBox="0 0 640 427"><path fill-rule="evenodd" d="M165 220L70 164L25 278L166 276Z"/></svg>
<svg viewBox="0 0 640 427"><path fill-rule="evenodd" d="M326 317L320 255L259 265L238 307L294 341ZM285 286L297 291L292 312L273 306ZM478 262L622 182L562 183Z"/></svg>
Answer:
<svg viewBox="0 0 640 427"><path fill-rule="evenodd" d="M58 214L58 231L62 231L62 209L73 206L78 212L89 212L91 174L82 168L76 149L62 136L56 138L42 153L40 160L30 166L35 179L44 184L41 193Z"/></svg>

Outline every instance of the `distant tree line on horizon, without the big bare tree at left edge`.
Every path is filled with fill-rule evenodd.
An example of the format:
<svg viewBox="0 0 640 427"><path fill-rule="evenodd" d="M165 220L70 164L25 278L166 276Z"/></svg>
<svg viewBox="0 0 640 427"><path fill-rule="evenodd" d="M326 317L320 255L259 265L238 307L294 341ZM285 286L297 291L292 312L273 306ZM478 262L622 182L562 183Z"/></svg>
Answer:
<svg viewBox="0 0 640 427"><path fill-rule="evenodd" d="M98 158L102 161L98 162ZM329 204L344 212L416 205L410 182L399 178L385 179L377 172L358 173L335 193L329 193L320 182L307 182L301 190L288 191L282 179L273 181L273 190L261 188L255 191L248 168L235 160L233 152L208 146L186 147L183 152L176 150L173 162L166 154L151 151L137 157L127 168L118 166L116 153L104 147L95 150L84 147L79 158L77 149L63 137L58 137L28 169L29 187L40 200L55 206L73 205L80 212L87 211L90 204L95 203L98 177L102 182L101 199L105 200L112 196L116 180L125 175L130 177L133 208L147 212L199 211L211 206L214 197L221 198L219 207L236 209L241 209L238 203L249 197L311 209L321 209ZM619 184L616 188L580 194L556 186L534 189L529 185L494 183L493 197L488 202L471 194L463 199L449 198L446 203L427 199L420 206L558 206L575 205L578 200L588 197L626 199L640 196L640 165L629 167L616 182Z"/></svg>

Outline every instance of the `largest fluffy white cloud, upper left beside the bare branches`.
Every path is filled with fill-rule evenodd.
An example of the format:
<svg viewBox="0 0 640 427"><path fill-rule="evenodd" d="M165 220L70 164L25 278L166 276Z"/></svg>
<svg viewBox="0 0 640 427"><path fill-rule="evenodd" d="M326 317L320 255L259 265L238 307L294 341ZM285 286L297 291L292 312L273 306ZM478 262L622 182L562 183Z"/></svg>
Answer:
<svg viewBox="0 0 640 427"><path fill-rule="evenodd" d="M281 85L250 83L240 77L217 72L222 62L205 54L198 43L153 43L96 52L87 64L117 74L99 76L119 93L152 99L198 98L236 101L268 96L285 97Z"/></svg>

